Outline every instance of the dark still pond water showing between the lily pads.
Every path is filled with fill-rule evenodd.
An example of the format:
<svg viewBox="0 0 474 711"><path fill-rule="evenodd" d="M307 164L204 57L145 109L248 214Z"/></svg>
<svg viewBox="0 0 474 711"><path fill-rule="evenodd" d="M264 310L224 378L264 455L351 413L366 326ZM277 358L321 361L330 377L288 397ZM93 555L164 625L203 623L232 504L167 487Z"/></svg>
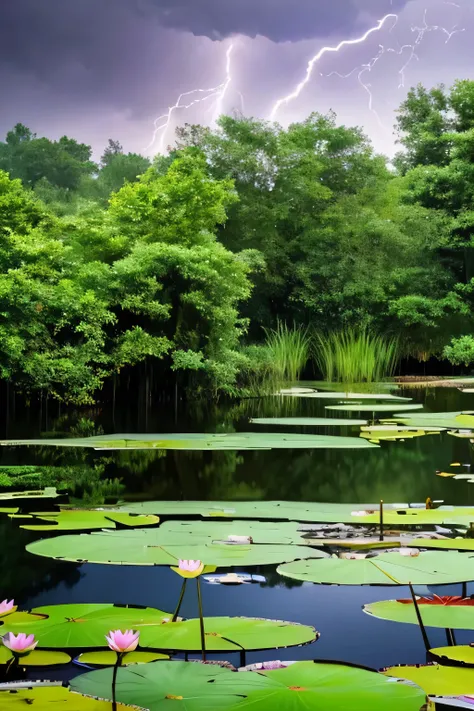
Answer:
<svg viewBox="0 0 474 711"><path fill-rule="evenodd" d="M455 388L409 390L400 394L423 403L429 411L474 410L474 394ZM87 413L18 411L1 423L5 437L37 437L47 432L65 433L80 417L93 420L106 434L117 432L283 432L358 436L359 428L282 428L249 424L251 417L324 416L328 401L304 398L262 398L238 404L159 403L144 412L135 406ZM344 413L346 416L348 413ZM357 413L353 413L358 416ZM334 413L330 415L334 416ZM363 416L362 416L363 418ZM106 478L119 477L127 500L291 500L368 503L422 502L427 496L446 504L474 505L474 485L437 477L436 470L451 462L472 461L469 440L448 434L418 437L405 442L385 442L379 449L274 450L262 452L107 452ZM85 465L103 460L103 452L74 449L0 449L0 464ZM43 534L44 535L44 534ZM0 599L14 597L22 609L60 603L131 603L171 611L181 580L162 568L75 565L39 558L24 546L40 536L19 530L16 523L0 519L2 589ZM220 571L219 571L220 572ZM268 659L333 659L380 668L426 661L419 630L365 615L364 603L408 597L408 588L337 587L300 584L280 578L272 568L252 569L266 584L240 586L203 585L204 613L246 615L300 622L314 626L320 639L307 647L248 653L247 663ZM198 615L194 586L188 591L181 614ZM461 586L444 586L439 594L460 594ZM474 594L474 583L468 585ZM443 630L429 629L431 646L446 644ZM472 641L469 632L458 632L458 644ZM224 655L219 655L223 658ZM238 657L229 655L238 665ZM61 678L79 673L49 674ZM31 676L48 677L48 673Z"/></svg>

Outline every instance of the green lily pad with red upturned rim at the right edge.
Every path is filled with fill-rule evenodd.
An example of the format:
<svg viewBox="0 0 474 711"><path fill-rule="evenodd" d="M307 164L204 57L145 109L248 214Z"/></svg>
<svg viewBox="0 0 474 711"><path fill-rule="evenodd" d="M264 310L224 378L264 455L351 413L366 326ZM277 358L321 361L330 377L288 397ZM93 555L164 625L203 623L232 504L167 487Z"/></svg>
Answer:
<svg viewBox="0 0 474 711"><path fill-rule="evenodd" d="M418 608L426 627L474 630L474 600L470 598L420 598ZM418 624L411 599L381 600L364 605L362 609L381 620Z"/></svg>

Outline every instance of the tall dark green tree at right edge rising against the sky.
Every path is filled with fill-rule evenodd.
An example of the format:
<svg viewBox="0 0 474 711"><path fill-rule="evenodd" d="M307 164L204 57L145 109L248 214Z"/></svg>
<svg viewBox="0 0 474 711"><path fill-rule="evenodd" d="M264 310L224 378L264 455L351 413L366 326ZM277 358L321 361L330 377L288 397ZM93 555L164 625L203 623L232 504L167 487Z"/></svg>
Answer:
<svg viewBox="0 0 474 711"><path fill-rule="evenodd" d="M402 199L438 212L448 226L437 258L456 285L446 298L464 318L451 324L455 330L445 335L446 343L473 325L474 82L457 81L449 91L443 86L411 90L397 125L405 148L397 159L404 174Z"/></svg>

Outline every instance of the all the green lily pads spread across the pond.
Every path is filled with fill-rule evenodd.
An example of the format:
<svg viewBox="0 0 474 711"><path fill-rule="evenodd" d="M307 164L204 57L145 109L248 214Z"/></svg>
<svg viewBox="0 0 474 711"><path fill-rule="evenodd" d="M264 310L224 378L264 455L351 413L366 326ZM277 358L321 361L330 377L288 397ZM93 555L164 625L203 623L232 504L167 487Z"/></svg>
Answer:
<svg viewBox="0 0 474 711"><path fill-rule="evenodd" d="M101 435L80 439L16 440L3 445L79 446L94 449L270 449L364 448L381 440L405 439L442 431L474 429L473 413L420 413L394 395L325 393L298 388L281 397L343 400L328 410L400 412L391 421L342 418L257 419L259 425L361 427L360 437L231 433ZM347 401L354 401L350 404ZM383 400L382 404L365 401ZM472 432L471 432L472 434ZM474 580L474 539L459 537L474 522L474 507L409 504L326 504L285 501L149 501L115 508L51 511L24 506L32 497L54 500L54 489L9 493L1 509L21 528L45 532L27 550L76 563L171 567L182 578L174 611L113 604L53 605L19 611L13 601L0 605L0 664L12 670L28 666L76 664L94 669L69 685L0 685L0 708L54 704L71 711L148 711L170 705L186 711L231 707L267 711L420 711L465 707L474 696L474 648L455 645L454 631L474 629L474 599L416 598L412 585ZM31 507L30 507L31 508ZM165 520L163 520L165 519ZM389 527L387 530L386 527ZM443 526L443 533L436 531ZM50 533L62 535L51 536ZM66 535L64 535L66 533ZM246 582L239 574L215 575L234 566L277 566L287 578L314 584L409 585L408 600L372 603L364 612L382 619L417 623L433 663L381 672L340 662L275 660L246 665L247 651L312 644L319 633L310 626L280 620L203 617L201 578ZM252 576L248 576L251 578ZM179 616L189 580L196 581L199 617ZM452 645L432 648L426 627L443 627ZM188 655L201 660L188 661ZM209 662L212 654L237 654ZM184 656L184 660L183 660ZM395 683L394 683L395 682ZM466 698L463 698L466 697ZM464 704L464 706L463 706ZM472 705L472 704L471 704Z"/></svg>

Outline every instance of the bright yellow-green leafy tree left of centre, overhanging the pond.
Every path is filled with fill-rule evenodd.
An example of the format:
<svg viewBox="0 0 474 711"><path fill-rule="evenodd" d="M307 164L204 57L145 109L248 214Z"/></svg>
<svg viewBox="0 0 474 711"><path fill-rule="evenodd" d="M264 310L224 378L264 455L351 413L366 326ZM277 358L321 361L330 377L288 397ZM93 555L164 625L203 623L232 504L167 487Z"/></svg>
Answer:
<svg viewBox="0 0 474 711"><path fill-rule="evenodd" d="M236 199L232 181L211 178L205 157L193 149L165 175L149 169L112 196L112 219L129 237L113 264L121 313L112 354L117 369L167 356L173 370L200 371L214 389L235 381L246 327L238 307L250 294L249 267L214 233Z"/></svg>

